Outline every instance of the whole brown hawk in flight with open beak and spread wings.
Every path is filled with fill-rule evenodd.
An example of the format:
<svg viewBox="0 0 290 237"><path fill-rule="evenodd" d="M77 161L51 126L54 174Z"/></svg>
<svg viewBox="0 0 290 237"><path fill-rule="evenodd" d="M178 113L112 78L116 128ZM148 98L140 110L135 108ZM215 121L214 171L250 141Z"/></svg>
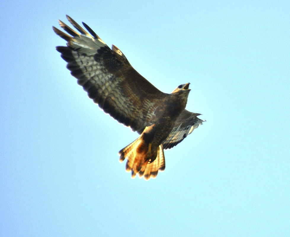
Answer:
<svg viewBox="0 0 290 237"><path fill-rule="evenodd" d="M54 32L67 41L56 50L68 63L71 75L98 104L118 122L137 131L140 136L119 151L120 162L127 159L126 171L132 178L156 178L164 171L164 149L180 143L205 120L185 109L189 84L178 86L172 93L163 93L142 77L114 45L110 49L83 22L86 32L71 17L76 32L59 20L68 34L53 27Z"/></svg>

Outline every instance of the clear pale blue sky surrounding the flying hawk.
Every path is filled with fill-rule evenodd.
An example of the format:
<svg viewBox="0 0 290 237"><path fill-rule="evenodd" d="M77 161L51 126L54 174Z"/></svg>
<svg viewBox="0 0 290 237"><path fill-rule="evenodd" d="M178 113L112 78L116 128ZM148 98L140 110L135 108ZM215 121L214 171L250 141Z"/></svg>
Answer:
<svg viewBox="0 0 290 237"><path fill-rule="evenodd" d="M290 236L289 1L1 1L0 236ZM77 85L52 31L86 22L207 120L131 179L137 138ZM59 28L59 27L58 27Z"/></svg>

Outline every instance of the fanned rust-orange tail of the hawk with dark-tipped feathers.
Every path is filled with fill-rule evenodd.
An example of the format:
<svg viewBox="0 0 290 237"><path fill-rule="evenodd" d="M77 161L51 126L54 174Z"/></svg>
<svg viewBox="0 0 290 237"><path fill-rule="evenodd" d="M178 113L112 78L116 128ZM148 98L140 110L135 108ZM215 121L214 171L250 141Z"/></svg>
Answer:
<svg viewBox="0 0 290 237"><path fill-rule="evenodd" d="M165 159L162 144L152 154L150 145L146 144L142 136L137 138L131 144L119 151L120 162L128 159L126 163L126 171L135 178L136 174L145 180L156 178L158 170L164 171ZM152 162L151 162L152 160Z"/></svg>

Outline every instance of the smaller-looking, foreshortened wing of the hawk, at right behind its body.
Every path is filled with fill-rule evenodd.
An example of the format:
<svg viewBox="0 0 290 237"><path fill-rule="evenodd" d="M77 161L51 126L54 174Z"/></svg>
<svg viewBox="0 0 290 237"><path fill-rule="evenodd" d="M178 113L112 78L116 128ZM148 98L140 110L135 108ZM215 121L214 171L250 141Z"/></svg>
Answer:
<svg viewBox="0 0 290 237"><path fill-rule="evenodd" d="M192 133L195 128L201 125L202 122L205 122L205 120L196 117L198 115L201 114L192 113L185 109L175 121L171 133L163 142L164 149L170 149L176 146L186 138L188 134Z"/></svg>

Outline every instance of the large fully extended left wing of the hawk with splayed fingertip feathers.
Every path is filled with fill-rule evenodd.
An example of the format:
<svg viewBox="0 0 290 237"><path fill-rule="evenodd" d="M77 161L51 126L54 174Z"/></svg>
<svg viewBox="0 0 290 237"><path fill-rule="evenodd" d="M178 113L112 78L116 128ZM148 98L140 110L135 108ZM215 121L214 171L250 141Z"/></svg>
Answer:
<svg viewBox="0 0 290 237"><path fill-rule="evenodd" d="M81 34L62 21L59 21L60 26L71 36L55 27L53 30L67 41L67 47L57 46L56 49L68 62L71 75L104 112L142 133L153 110L168 94L134 70L116 46L111 50L85 23L91 35L71 17L67 18Z"/></svg>

